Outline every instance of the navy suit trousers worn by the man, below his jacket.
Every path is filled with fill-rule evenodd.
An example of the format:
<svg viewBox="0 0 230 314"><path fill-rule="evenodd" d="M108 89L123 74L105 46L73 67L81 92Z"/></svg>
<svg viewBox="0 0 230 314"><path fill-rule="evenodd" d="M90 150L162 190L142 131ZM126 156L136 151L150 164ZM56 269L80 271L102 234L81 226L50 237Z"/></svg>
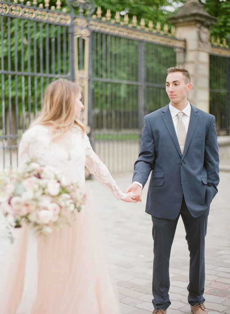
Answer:
<svg viewBox="0 0 230 314"><path fill-rule="evenodd" d="M209 208L197 218L194 218L185 204L184 198L176 219L162 219L152 216L154 240L153 259L153 306L166 310L169 300L169 258L177 222L181 215L186 231L186 240L190 252L188 301L195 305L205 301L203 297L205 286L205 236L207 232ZM178 257L179 258L179 257Z"/></svg>

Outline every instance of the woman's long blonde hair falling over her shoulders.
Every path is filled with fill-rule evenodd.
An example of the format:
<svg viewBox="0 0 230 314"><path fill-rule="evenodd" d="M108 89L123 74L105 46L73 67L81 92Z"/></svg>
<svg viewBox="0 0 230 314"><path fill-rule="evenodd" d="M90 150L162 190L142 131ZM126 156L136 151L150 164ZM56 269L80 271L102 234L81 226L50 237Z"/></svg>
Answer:
<svg viewBox="0 0 230 314"><path fill-rule="evenodd" d="M50 83L45 91L41 114L33 125L51 123L58 133L63 133L75 124L84 134L85 126L75 119L74 102L79 93L83 93L82 88L67 79L58 78Z"/></svg>

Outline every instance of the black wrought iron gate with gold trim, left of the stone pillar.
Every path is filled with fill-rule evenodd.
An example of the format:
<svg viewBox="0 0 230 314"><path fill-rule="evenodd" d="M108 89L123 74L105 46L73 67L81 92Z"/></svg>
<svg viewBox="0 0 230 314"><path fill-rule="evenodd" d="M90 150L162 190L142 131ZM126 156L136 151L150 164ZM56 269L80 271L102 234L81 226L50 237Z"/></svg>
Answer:
<svg viewBox="0 0 230 314"><path fill-rule="evenodd" d="M92 0L26 5L0 1L0 160L17 165L18 143L42 106L44 89L62 77L84 86L83 121L96 153L112 172L130 171L139 150L143 116L167 103L165 73L185 42L144 20ZM161 34L163 32L164 34Z"/></svg>

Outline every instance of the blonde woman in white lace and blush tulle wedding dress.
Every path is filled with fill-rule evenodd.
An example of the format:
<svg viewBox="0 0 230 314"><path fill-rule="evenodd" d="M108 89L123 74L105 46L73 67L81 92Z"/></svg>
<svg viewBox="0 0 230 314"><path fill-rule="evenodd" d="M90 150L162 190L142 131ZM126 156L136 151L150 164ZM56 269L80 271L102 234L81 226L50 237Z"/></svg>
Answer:
<svg viewBox="0 0 230 314"><path fill-rule="evenodd" d="M124 194L93 151L79 121L83 109L78 85L58 79L46 90L41 115L22 136L19 167L30 160L62 171L78 183L86 202L71 226L53 230L46 241L31 242L27 226L17 228L0 287L1 314L119 314L102 252L93 198L85 184L85 166L117 199Z"/></svg>

